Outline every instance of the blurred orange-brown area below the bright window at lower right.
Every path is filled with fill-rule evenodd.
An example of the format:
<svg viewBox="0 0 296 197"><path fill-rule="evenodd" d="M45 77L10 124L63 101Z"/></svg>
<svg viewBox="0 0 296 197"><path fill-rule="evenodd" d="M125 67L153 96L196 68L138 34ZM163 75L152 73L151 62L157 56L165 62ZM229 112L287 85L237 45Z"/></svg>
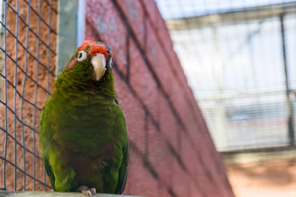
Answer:
<svg viewBox="0 0 296 197"><path fill-rule="evenodd" d="M296 158L225 164L236 197L296 197Z"/></svg>

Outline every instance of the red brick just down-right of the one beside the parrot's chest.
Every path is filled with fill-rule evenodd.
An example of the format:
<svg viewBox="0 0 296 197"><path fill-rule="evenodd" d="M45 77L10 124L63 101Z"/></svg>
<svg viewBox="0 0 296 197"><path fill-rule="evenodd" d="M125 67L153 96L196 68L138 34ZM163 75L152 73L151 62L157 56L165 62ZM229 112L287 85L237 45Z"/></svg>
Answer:
<svg viewBox="0 0 296 197"><path fill-rule="evenodd" d="M175 160L166 144L165 138L149 120L148 122L148 161L158 172L161 180L168 186L172 180L172 162Z"/></svg>

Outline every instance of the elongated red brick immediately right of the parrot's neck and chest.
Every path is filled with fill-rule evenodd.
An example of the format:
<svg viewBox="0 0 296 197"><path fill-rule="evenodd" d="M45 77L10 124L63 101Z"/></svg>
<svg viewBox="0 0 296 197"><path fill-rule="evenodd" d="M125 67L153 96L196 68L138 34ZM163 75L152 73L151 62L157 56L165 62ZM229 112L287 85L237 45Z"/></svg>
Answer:
<svg viewBox="0 0 296 197"><path fill-rule="evenodd" d="M114 72L114 83L117 91L118 102L127 123L127 134L130 141L134 142L141 153L145 153L145 111L140 102L133 97L125 81Z"/></svg>

